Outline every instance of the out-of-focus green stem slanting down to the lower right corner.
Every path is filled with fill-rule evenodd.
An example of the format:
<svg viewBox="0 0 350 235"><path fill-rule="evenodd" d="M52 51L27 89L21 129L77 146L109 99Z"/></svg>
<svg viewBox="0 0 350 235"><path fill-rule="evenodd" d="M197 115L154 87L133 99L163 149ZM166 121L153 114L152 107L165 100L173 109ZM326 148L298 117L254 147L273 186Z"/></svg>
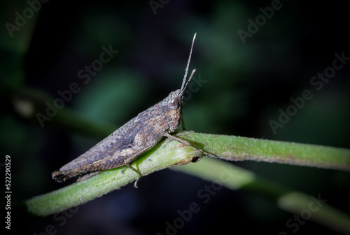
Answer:
<svg viewBox="0 0 350 235"><path fill-rule="evenodd" d="M173 170L221 184L231 190L248 190L272 199L283 211L301 216L303 220L313 220L337 232L350 234L350 216L327 204L327 199L321 194L307 195L297 192L260 178L251 171L212 158L202 159L196 164L175 166ZM293 215L290 218L293 219Z"/></svg>

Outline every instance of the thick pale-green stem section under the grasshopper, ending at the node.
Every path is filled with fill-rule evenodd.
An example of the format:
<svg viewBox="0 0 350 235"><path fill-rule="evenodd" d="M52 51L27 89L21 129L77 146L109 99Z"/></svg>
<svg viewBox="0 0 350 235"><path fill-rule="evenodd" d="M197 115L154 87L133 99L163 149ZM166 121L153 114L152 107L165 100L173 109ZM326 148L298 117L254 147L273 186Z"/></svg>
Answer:
<svg viewBox="0 0 350 235"><path fill-rule="evenodd" d="M132 166L139 169L142 176L146 176L169 166L187 164L193 157L200 157L200 154L200 151L191 146L183 147L183 144L177 141L166 140L141 155ZM122 173L123 169L124 167L118 167L102 171L87 180L29 199L25 201L27 211L38 216L58 213L85 204L137 179L137 173L131 169L125 169Z"/></svg>

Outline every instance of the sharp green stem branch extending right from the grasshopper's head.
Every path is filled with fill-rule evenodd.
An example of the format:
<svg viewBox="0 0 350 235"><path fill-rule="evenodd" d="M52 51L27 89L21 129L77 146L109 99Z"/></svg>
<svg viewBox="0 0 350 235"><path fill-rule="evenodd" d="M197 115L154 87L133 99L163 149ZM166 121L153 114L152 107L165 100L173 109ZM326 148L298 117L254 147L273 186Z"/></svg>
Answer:
<svg viewBox="0 0 350 235"><path fill-rule="evenodd" d="M178 136L227 161L277 162L350 171L350 150L345 148L194 132Z"/></svg>

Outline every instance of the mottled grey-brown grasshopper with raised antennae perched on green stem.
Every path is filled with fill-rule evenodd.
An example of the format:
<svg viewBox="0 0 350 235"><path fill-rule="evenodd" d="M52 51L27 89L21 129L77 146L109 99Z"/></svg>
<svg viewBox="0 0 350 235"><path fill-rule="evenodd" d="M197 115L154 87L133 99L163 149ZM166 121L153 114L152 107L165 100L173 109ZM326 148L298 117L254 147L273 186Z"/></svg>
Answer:
<svg viewBox="0 0 350 235"><path fill-rule="evenodd" d="M188 141L172 136L171 133L179 126L181 121L183 124L183 92L195 73L195 69L193 69L186 83L195 36L193 37L190 57L188 58L181 89L170 92L158 104L139 113L137 117L125 123L123 127L114 131L104 140L97 143L97 145L90 148L90 150L83 153L83 155L62 166L59 171L53 172L52 178L54 180L61 182L73 176L78 176L78 180L85 180L99 173L99 171L118 166L127 166L137 172L140 177L141 173L130 166L130 163L139 155L152 148L163 136L172 138L174 141L179 141L184 145L190 145ZM139 177L137 180L139 180ZM134 184L135 187L137 187L137 180Z"/></svg>

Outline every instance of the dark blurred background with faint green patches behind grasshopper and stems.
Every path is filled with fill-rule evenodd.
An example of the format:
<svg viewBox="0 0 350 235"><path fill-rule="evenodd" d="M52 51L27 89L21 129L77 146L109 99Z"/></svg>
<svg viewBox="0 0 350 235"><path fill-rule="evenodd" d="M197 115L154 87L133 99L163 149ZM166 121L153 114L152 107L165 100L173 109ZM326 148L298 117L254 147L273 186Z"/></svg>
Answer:
<svg viewBox="0 0 350 235"><path fill-rule="evenodd" d="M10 2L1 8L2 24L13 23L15 12L28 7ZM271 2L173 0L155 14L149 1L48 1L13 38L2 27L1 162L11 156L13 201L67 185L55 183L51 172L102 139L49 122L41 128L35 118L17 111L15 91L30 87L56 99L57 91L78 83L80 92L65 107L120 127L181 87L195 32L190 70L197 69L196 76L207 82L183 107L188 129L350 148L349 62L321 90L310 84L332 66L335 53L350 57L349 8L343 1L281 1L281 9L242 43L237 31L248 31L248 19L255 21L262 14L259 8ZM7 42L24 31L29 32L28 48L20 56L20 49L9 49ZM118 54L84 84L78 71L109 45ZM301 97L304 90L311 90L313 98L274 134L269 121L278 121L279 109L286 111L290 97ZM321 194L331 206L350 212L349 173L233 164L305 194ZM167 169L141 178L138 190L127 185L59 218L34 218L13 208L12 226L25 234L45 232L50 225L55 234L165 234L166 222L174 222L176 211L190 203L200 204L197 192L210 184ZM258 194L223 188L178 234L293 234L286 227L292 217ZM335 233L307 221L297 234L318 232Z"/></svg>

